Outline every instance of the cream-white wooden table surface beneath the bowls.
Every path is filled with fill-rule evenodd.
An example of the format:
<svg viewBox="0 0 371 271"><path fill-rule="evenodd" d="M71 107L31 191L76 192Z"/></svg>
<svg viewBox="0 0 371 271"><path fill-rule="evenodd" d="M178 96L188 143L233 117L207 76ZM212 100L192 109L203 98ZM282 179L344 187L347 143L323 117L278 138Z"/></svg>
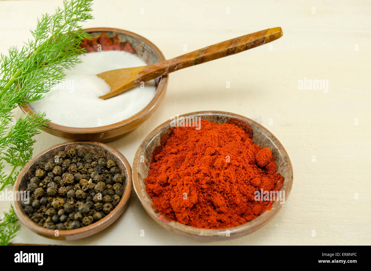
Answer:
<svg viewBox="0 0 371 271"><path fill-rule="evenodd" d="M294 183L289 199L262 229L215 245L371 244L371 3L323 2L95 0L95 19L83 24L136 32L156 44L167 59L186 53L184 44L191 52L282 27L283 37L269 43L273 47L266 44L171 74L166 97L154 115L134 132L108 143L132 163L152 129L171 116L198 110L233 112L266 126L292 161ZM0 1L0 52L22 45L36 18L61 5L62 1ZM329 91L299 90L298 80L304 77L329 80ZM15 113L22 115L19 109ZM35 139L35 154L65 141L45 132ZM0 202L0 214L9 204ZM134 191L124 214L96 235L56 241L22 225L13 242L207 244L163 229L144 211Z"/></svg>

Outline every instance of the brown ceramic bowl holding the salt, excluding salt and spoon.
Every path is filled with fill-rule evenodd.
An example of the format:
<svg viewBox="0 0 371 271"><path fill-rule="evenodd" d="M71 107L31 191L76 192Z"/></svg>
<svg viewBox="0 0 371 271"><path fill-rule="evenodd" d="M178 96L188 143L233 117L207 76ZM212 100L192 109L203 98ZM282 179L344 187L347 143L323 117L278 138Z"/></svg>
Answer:
<svg viewBox="0 0 371 271"><path fill-rule="evenodd" d="M143 59L147 64L153 64L165 60L164 55L153 43L138 34L114 28L89 28L85 29L85 31L90 33L92 37L96 37L102 32L106 32L109 37L117 35L121 42L130 42L132 47L137 51L138 57ZM44 131L70 140L109 142L120 138L125 135L125 133L137 128L142 122L147 120L164 99L168 76L158 77L155 79L155 82L156 93L154 98L145 108L128 119L110 125L92 128L68 127L53 122L47 122L49 126L47 126ZM20 105L20 108L24 113L34 113L32 108L28 106Z"/></svg>

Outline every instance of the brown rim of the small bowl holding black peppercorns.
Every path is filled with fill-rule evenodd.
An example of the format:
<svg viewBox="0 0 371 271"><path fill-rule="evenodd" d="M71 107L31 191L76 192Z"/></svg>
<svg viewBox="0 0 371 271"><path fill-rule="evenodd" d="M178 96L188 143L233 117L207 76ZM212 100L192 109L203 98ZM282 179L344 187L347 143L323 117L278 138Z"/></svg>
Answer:
<svg viewBox="0 0 371 271"><path fill-rule="evenodd" d="M42 235L43 237L52 238L52 239L63 239L65 237L69 237L69 236L72 236L72 235L81 235L81 237L79 237L79 238L84 238L84 237L88 237L90 235L93 235L93 234L105 229L106 227L111 225L117 218L119 218L119 216L122 214L122 212L124 212L124 210L125 210L125 208L128 204L130 195L131 195L131 191L132 191L132 181L131 181L132 173L131 173L131 166L130 166L128 160L125 158L125 156L121 152L119 152L115 148L112 148L111 146L108 146L104 143L95 142L95 141L67 141L67 142L63 142L63 143L54 145L54 146L46 149L45 151L40 152L34 158L32 158L26 164L26 166L24 166L22 171L19 173L19 175L16 179L16 182L14 183L13 191L18 191L18 188L21 184L22 177L23 177L24 173L27 171L27 169L29 169L30 166L33 165L33 163L35 162L35 160L37 158L39 158L40 156L44 155L45 153L47 153L49 151L52 151L55 148L58 148L60 146L70 145L70 144L96 145L96 146L99 146L103 149L106 149L107 151L109 151L109 152L113 153L115 156L117 156L117 158L120 161L122 161L122 163L124 164L124 166L126 168L126 171L127 171L126 172L127 173L126 187L124 189L124 194L122 195L121 200L118 203L118 205L108 215L106 215L101 220L98 220L98 221L94 222L93 224L90 224L88 226L81 227L81 228L78 228L78 229L59 230L58 231L59 232L59 237L55 237L55 230L54 229L47 229L47 228L41 227L41 226L37 225L35 222L33 222L29 217L27 217L27 215L25 215L24 212L22 211L22 207L19 205L18 201L14 198L14 201L13 201L14 211L16 212L20 221L22 221L22 223L24 225L26 225L29 229L31 229L33 232L36 232L37 234ZM94 230L96 230L96 231L91 232L91 231L94 231ZM89 234L89 232L91 232L91 233ZM76 239L79 239L79 238L76 238Z"/></svg>

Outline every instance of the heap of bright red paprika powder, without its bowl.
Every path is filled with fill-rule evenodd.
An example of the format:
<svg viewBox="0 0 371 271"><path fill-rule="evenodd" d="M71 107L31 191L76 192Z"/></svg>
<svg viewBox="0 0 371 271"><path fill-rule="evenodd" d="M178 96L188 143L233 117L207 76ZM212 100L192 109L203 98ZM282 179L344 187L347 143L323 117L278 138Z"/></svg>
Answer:
<svg viewBox="0 0 371 271"><path fill-rule="evenodd" d="M196 228L241 225L267 209L255 191L272 191L283 177L275 157L252 141L252 130L201 120L176 127L151 156L146 190L160 212ZM279 190L279 189L278 189Z"/></svg>

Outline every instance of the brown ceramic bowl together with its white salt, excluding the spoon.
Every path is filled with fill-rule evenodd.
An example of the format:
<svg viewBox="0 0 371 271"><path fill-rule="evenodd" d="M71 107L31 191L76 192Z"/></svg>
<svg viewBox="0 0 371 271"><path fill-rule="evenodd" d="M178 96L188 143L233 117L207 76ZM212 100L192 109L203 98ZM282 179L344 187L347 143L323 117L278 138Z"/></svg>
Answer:
<svg viewBox="0 0 371 271"><path fill-rule="evenodd" d="M44 98L20 105L24 113L46 113L45 132L70 140L109 142L137 128L164 99L168 76L143 82L111 99L99 99L109 85L96 74L108 70L145 66L165 60L149 40L121 29L85 29L92 40L81 46L81 63L65 70L66 78L52 84Z"/></svg>

